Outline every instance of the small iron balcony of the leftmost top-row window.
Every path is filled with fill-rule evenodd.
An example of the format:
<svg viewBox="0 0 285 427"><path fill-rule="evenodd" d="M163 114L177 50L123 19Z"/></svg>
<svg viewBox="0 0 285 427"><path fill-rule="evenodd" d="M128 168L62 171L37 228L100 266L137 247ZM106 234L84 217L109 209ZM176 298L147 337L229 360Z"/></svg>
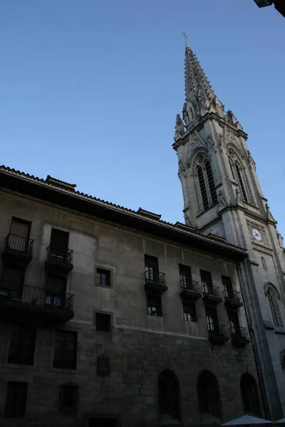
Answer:
<svg viewBox="0 0 285 427"><path fill-rule="evenodd" d="M33 240L9 233L2 258L6 263L28 265L33 258Z"/></svg>

